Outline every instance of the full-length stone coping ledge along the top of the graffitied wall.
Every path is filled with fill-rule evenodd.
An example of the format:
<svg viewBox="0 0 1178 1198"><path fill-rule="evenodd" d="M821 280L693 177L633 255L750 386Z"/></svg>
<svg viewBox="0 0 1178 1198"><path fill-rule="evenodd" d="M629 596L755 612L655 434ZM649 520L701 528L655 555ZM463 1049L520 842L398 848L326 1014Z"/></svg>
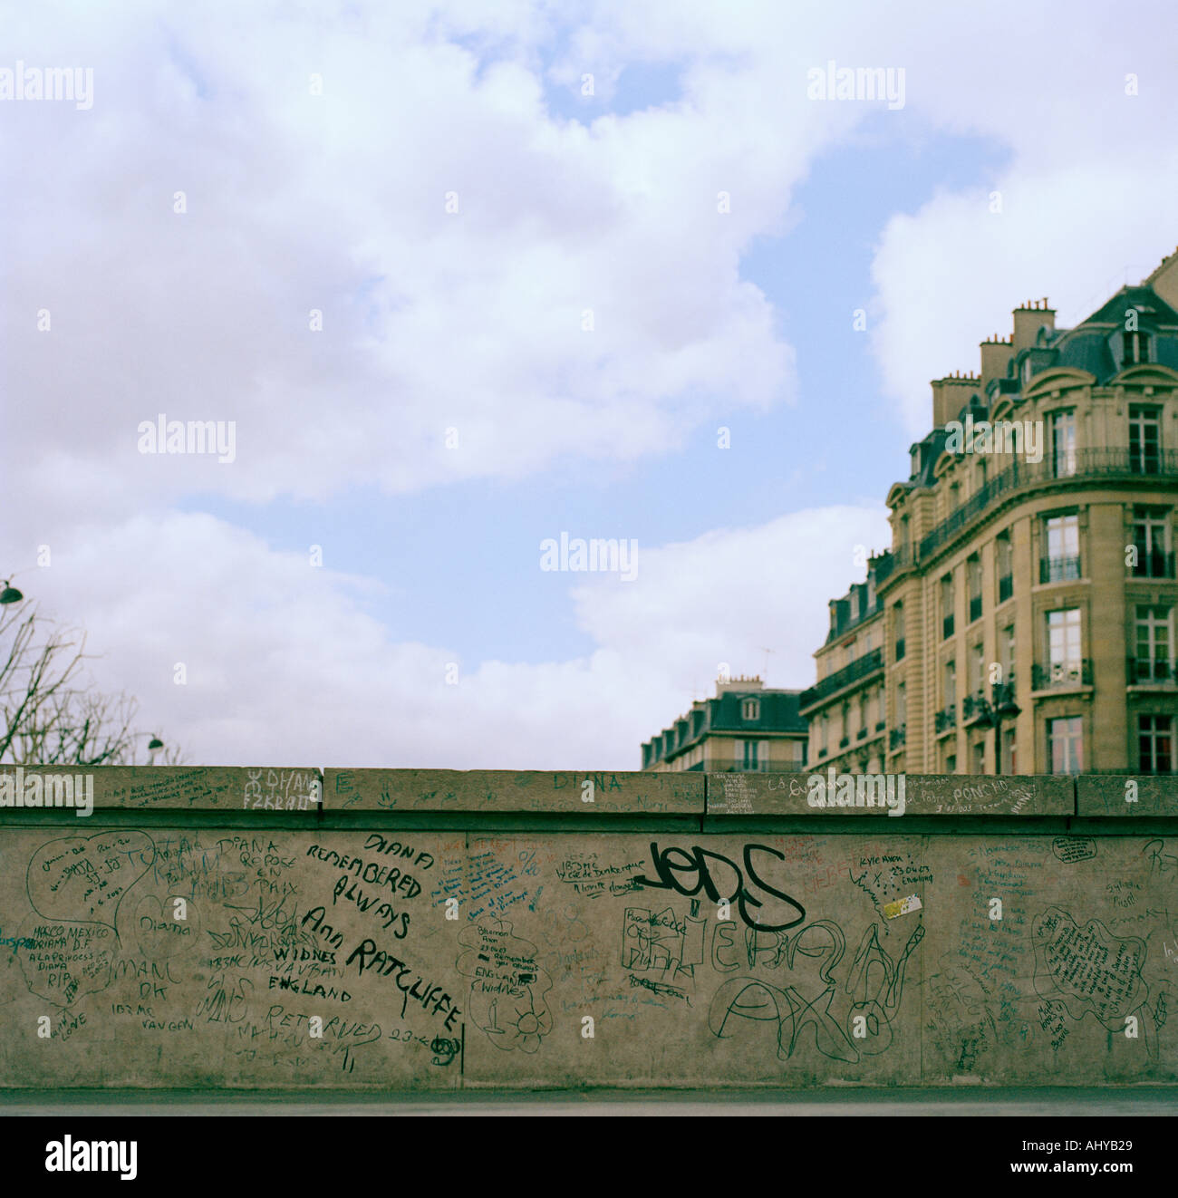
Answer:
<svg viewBox="0 0 1178 1198"><path fill-rule="evenodd" d="M878 776L878 775L876 775ZM821 780L821 792L811 780ZM635 816L1174 817L1178 775L892 775L884 806L864 775L829 772L326 769L250 766L0 767L0 822L13 809L280 812L576 812ZM854 787L864 804L847 805ZM842 789L840 791L840 786ZM823 805L810 803L820 797ZM840 797L844 799L839 801Z"/></svg>

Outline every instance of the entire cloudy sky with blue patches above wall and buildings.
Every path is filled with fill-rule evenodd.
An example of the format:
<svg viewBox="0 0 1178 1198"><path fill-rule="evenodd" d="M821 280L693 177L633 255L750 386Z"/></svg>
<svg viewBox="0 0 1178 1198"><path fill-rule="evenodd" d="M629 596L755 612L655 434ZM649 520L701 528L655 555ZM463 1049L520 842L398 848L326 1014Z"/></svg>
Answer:
<svg viewBox="0 0 1178 1198"><path fill-rule="evenodd" d="M1178 242L1167 7L1079 7L18 14L95 93L0 105L4 573L193 761L633 768L721 662L808 685L929 380Z"/></svg>

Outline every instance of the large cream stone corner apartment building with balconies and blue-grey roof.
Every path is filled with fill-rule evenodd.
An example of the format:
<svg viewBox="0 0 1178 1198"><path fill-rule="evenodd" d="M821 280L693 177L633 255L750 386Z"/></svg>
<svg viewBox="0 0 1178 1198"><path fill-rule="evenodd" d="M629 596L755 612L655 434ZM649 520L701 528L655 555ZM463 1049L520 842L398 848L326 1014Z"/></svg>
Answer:
<svg viewBox="0 0 1178 1198"><path fill-rule="evenodd" d="M829 605L810 768L1174 772L1178 252L1074 328L1013 315L934 381L892 546Z"/></svg>

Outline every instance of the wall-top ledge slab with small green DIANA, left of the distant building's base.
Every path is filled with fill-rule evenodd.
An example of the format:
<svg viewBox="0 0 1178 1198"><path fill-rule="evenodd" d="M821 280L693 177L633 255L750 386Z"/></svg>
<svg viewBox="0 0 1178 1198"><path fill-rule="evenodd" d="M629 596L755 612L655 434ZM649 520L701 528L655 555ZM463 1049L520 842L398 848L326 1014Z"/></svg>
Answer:
<svg viewBox="0 0 1178 1198"><path fill-rule="evenodd" d="M328 769L324 810L702 816L703 775L609 769Z"/></svg>

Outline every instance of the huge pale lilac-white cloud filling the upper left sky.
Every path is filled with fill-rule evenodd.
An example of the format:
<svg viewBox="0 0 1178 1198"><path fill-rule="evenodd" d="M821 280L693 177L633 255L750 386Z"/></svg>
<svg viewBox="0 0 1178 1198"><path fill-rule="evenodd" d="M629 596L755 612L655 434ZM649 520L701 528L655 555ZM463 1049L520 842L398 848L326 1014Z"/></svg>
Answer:
<svg viewBox="0 0 1178 1198"><path fill-rule="evenodd" d="M501 18L446 19L494 40ZM73 114L89 125L4 114L18 156L47 137L59 151L12 213L11 381L41 399L17 417L26 461L117 462L107 502L123 510L193 490L401 491L664 453L701 400L789 398L790 350L737 272L802 165L750 152L768 125L551 120L530 69L415 36L417 10L324 29L235 8L231 36L228 10L111 20L122 36L91 30L95 109ZM158 411L235 419L238 465L138 460L135 425Z"/></svg>

